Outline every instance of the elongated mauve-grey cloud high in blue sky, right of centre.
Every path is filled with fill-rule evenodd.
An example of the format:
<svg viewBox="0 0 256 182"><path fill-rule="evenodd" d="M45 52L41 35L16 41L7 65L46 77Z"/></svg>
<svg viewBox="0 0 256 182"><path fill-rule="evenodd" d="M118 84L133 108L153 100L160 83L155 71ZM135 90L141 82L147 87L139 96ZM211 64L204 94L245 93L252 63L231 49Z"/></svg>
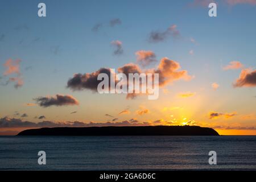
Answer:
<svg viewBox="0 0 256 182"><path fill-rule="evenodd" d="M172 36L173 38L177 38L178 36L180 36L180 32L177 30L176 24L173 24L163 32L152 31L149 36L149 42L151 43L163 42L169 36Z"/></svg>

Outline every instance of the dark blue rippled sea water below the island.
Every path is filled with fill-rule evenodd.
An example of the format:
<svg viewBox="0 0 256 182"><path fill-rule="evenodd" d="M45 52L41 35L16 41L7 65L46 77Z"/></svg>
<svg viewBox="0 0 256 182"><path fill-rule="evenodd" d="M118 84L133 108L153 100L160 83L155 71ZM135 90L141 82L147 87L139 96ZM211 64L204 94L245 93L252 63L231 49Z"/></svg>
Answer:
<svg viewBox="0 0 256 182"><path fill-rule="evenodd" d="M38 151L47 164L38 164ZM217 152L209 165L208 152ZM0 169L256 170L256 136L0 137Z"/></svg>

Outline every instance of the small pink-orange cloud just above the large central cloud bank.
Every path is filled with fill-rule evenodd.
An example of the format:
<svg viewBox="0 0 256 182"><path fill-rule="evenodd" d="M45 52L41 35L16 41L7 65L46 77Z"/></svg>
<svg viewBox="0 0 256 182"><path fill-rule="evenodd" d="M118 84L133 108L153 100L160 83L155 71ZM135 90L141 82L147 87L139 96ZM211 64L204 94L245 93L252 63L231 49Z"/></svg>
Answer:
<svg viewBox="0 0 256 182"><path fill-rule="evenodd" d="M153 51L137 51L135 52L135 55L137 55L137 62L138 64L142 65L142 67L146 67L147 65L150 65L151 63L156 62L155 59L155 53Z"/></svg>

